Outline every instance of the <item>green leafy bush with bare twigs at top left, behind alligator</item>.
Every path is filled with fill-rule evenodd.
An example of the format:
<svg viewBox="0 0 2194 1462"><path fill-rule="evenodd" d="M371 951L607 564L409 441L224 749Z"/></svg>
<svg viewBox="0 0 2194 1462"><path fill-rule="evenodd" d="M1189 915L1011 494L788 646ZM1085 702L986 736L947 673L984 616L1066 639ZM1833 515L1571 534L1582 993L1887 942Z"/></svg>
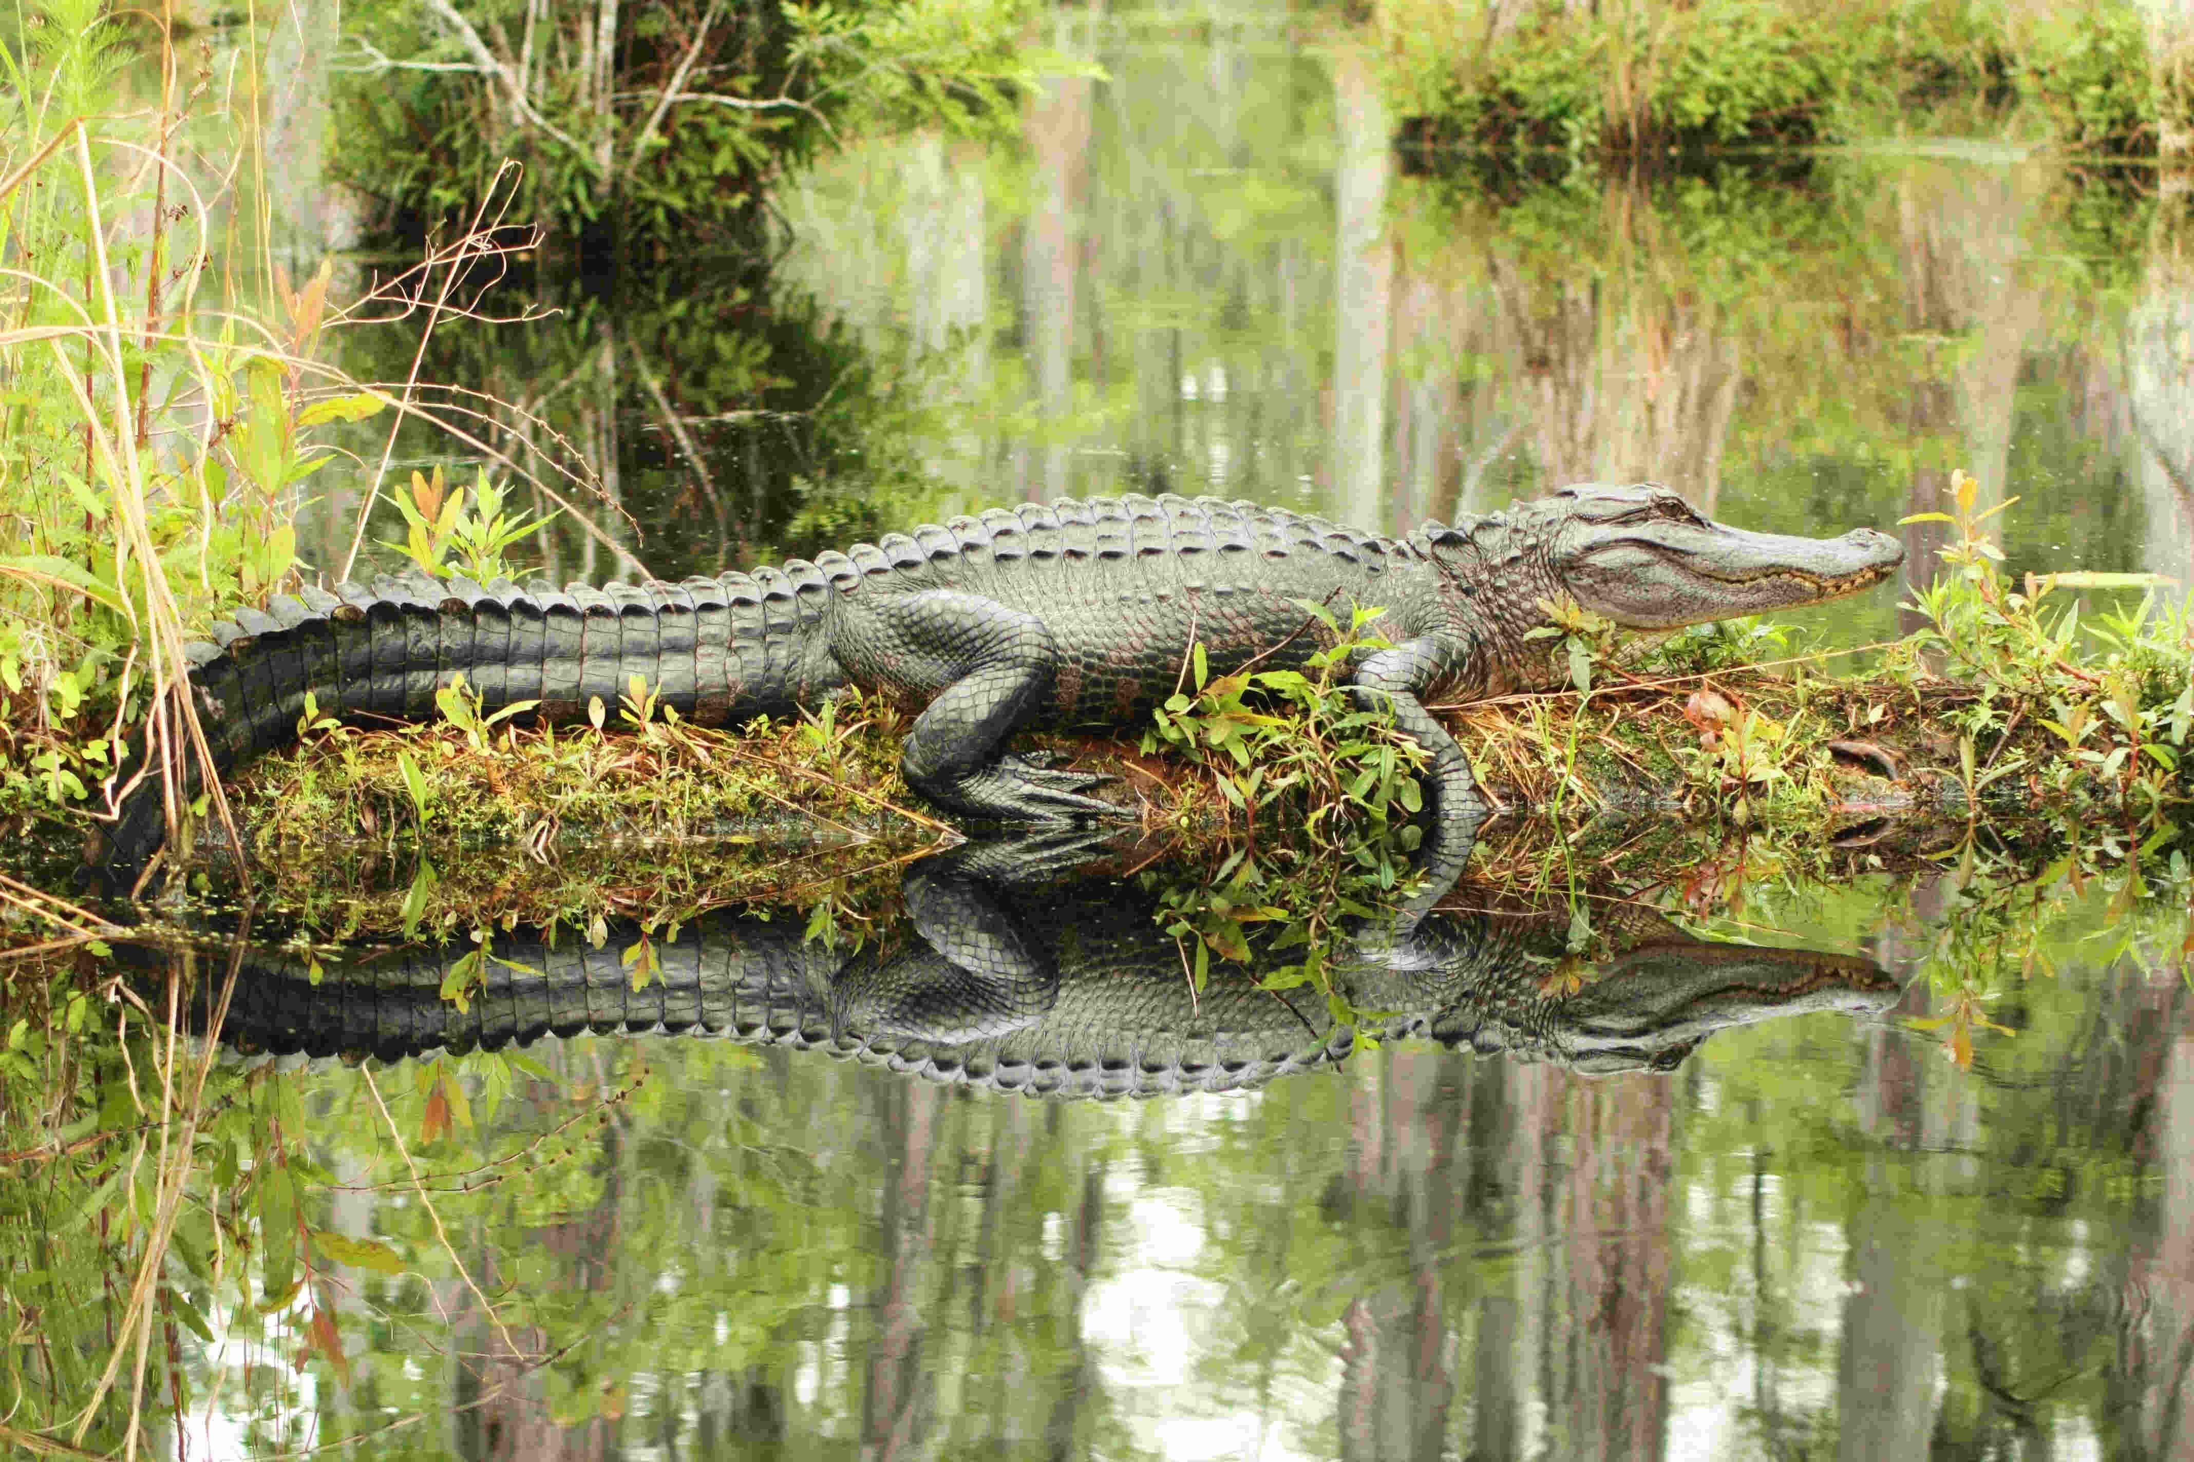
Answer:
<svg viewBox="0 0 2194 1462"><path fill-rule="evenodd" d="M465 0L344 15L333 171L406 243L461 226L524 162L507 217L559 252L764 245L788 169L873 127L998 127L1051 68L1025 0L597 7ZM485 66L496 68L489 79Z"/></svg>

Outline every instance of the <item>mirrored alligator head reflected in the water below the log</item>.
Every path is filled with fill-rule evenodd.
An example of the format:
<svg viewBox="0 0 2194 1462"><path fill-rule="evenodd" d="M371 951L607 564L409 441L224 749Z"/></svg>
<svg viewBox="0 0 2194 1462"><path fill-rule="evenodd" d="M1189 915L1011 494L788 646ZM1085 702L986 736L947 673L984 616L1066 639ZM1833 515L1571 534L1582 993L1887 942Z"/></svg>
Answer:
<svg viewBox="0 0 2194 1462"><path fill-rule="evenodd" d="M1718 945L1670 927L1597 964L1575 993L1474 1030L1435 1021L1433 1037L1586 1076L1670 1072L1716 1030L1817 1010L1880 1015L1898 995L1885 969L1856 956Z"/></svg>

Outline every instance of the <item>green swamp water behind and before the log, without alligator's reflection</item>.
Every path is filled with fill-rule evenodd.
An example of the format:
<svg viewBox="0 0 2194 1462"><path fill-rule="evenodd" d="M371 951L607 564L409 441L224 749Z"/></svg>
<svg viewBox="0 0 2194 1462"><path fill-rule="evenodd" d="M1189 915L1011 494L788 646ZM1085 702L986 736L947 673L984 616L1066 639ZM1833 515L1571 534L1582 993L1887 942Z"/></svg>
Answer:
<svg viewBox="0 0 2194 1462"><path fill-rule="evenodd" d="M1409 528L1656 478L1841 533L1955 467L2021 498L2014 572L2194 568L2194 265L2152 180L1937 145L1437 182L1281 20L1055 39L1108 79L1033 99L1022 145L860 149L779 199L766 278L557 289L443 329L426 375L535 410L667 576L1108 491ZM388 349L353 364L402 377ZM619 572L568 524L538 557ZM1889 592L1814 620L1900 629ZM224 1273L263 1298L237 1245L270 1223L384 1247L314 1241L265 1326L178 1269L213 1339L156 1346L186 1403L156 1427L189 1458L2187 1455L2185 879L1790 890L1733 846L1731 905L1676 872L1724 934L1863 956L1900 1002L1672 1072L1398 1041L1115 1105L691 1037L397 1061L377 1096L224 1065L235 1162L290 1184L224 1221ZM11 1223L105 1223L48 1177L0 1173ZM53 1273L39 1311L15 1287L9 1383L112 1341L121 1260ZM314 1315L347 1370L303 1355Z"/></svg>

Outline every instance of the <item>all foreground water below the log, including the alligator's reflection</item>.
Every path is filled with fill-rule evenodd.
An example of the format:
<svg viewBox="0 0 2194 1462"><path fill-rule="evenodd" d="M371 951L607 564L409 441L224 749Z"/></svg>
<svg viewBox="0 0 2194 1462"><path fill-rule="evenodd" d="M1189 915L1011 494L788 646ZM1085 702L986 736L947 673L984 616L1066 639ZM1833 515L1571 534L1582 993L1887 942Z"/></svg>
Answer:
<svg viewBox="0 0 2194 1462"><path fill-rule="evenodd" d="M169 1214L143 1396L191 1455L2168 1438L2185 883L1729 853L1665 894L1714 938L1621 888L1584 947L1562 901L1439 912L1334 960L1354 1010L1259 986L1279 929L1191 993L1156 916L1211 870L1022 886L981 846L860 947L759 907L377 953L261 921L53 969L9 1056L9 1436L68 1436L110 1355L118 1436ZM169 991L252 1056L147 1021ZM2014 1032L1970 1072L1880 1019L1966 997Z"/></svg>

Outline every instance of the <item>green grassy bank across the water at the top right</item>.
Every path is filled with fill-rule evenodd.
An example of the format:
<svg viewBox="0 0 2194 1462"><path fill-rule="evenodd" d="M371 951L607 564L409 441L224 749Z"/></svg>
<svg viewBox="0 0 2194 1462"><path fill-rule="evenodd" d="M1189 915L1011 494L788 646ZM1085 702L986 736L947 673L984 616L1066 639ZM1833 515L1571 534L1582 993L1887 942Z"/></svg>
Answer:
<svg viewBox="0 0 2194 1462"><path fill-rule="evenodd" d="M1986 0L1628 0L1376 15L1404 136L1474 151L1635 158L1845 142L2025 105L2058 147L2152 153L2163 101L2124 0L2038 15ZM1955 121L1950 121L1955 118Z"/></svg>

